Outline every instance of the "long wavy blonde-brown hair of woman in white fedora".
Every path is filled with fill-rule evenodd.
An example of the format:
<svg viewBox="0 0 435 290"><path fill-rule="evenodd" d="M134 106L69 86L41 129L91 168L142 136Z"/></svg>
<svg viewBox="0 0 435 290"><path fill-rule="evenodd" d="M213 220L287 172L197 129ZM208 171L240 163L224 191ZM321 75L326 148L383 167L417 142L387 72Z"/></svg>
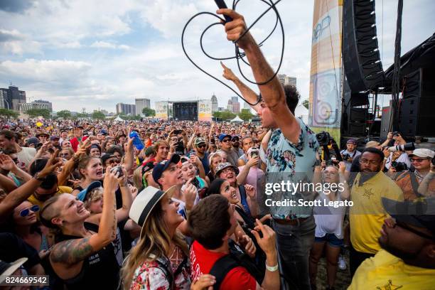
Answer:
<svg viewBox="0 0 435 290"><path fill-rule="evenodd" d="M136 272L136 269L141 263L154 261L159 257L167 257L171 242L180 247L183 253L188 257L188 245L178 231L171 240L164 222L162 225L163 215L164 213L160 202L146 219L142 227L144 235L141 235L138 244L130 250L129 257L127 257L126 262L124 262L122 266L121 275L124 281L124 289L130 289L134 272Z"/></svg>

